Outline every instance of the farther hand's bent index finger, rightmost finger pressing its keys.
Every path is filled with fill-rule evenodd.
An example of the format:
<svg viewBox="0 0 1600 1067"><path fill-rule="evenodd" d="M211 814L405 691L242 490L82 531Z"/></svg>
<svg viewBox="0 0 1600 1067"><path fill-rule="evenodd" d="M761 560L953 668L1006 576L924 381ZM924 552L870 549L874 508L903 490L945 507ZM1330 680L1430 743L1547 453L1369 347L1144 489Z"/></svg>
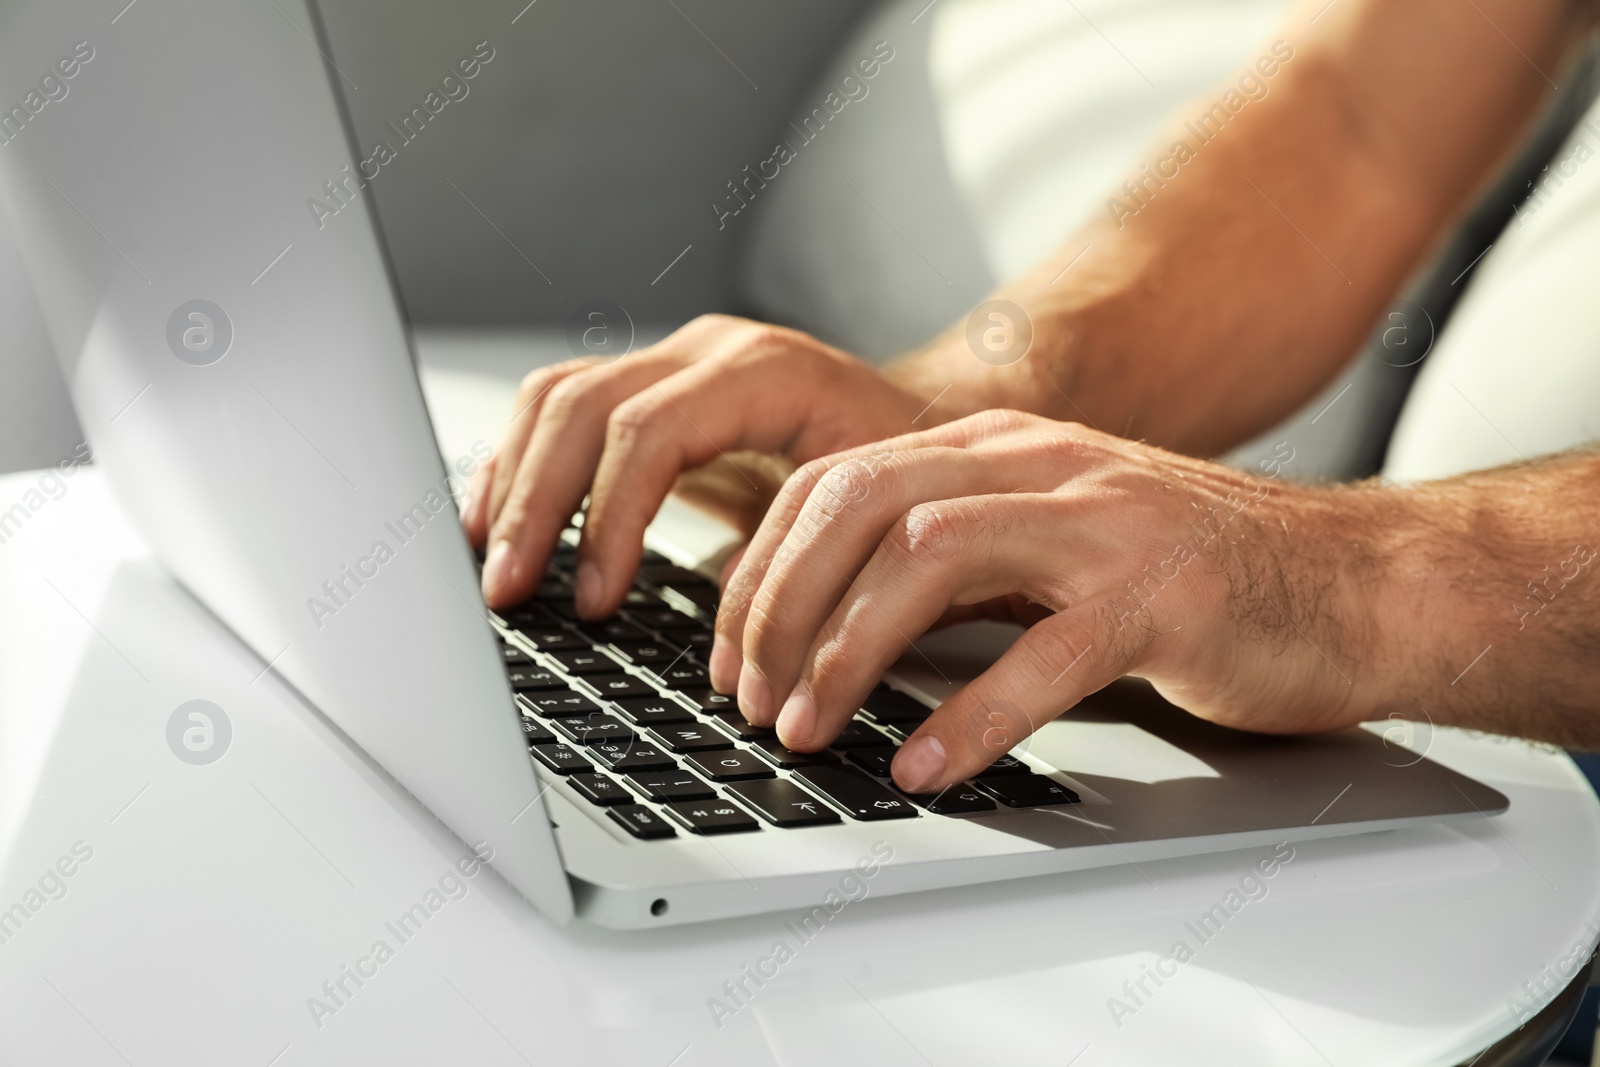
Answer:
<svg viewBox="0 0 1600 1067"><path fill-rule="evenodd" d="M621 603L645 528L683 470L728 451L782 450L838 379L835 358L798 349L787 331L773 339L746 328L618 405L578 545L579 576L590 576L579 579L579 611L605 614ZM754 480L750 488L758 488Z"/></svg>

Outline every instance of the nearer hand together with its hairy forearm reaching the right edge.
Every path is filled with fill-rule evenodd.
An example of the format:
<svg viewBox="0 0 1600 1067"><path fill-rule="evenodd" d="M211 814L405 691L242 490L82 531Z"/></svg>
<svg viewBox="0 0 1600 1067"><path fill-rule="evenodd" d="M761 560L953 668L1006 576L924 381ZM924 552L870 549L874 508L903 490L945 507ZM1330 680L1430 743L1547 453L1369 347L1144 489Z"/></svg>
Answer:
<svg viewBox="0 0 1600 1067"><path fill-rule="evenodd" d="M906 635L982 616L1029 629L904 744L910 792L1130 673L1243 729L1400 712L1600 741L1600 459L1424 490L1298 486L1291 461L1234 470L997 410L805 464L726 584L741 707L824 747ZM1474 662L1486 645L1506 651Z"/></svg>

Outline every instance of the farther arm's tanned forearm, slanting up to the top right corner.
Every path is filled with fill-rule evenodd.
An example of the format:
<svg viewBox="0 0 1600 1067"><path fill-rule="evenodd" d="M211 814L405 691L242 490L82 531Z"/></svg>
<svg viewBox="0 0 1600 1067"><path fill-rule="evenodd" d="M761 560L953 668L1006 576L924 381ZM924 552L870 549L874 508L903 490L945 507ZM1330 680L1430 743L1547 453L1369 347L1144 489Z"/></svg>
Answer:
<svg viewBox="0 0 1600 1067"><path fill-rule="evenodd" d="M1026 358L974 358L963 322L891 376L928 397L949 384L947 418L1024 408L1190 453L1312 397L1514 142L1587 11L1342 0L1310 22L1318 10L1278 32L1293 56L1258 75L1266 96L1219 133L1195 123L1229 86L1186 107L1131 192L997 293L1032 320Z"/></svg>

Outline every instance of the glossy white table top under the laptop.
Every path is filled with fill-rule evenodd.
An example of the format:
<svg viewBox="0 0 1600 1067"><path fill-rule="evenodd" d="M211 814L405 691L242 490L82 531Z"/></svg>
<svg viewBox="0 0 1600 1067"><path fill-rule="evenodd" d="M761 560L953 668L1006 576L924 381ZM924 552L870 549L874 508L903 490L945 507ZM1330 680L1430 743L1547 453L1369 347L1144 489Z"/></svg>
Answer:
<svg viewBox="0 0 1600 1067"><path fill-rule="evenodd" d="M493 437L506 384L483 368L512 349L480 352L480 392L429 374L446 448ZM0 512L37 486L0 478ZM206 766L166 742L192 699L232 723ZM557 929L485 872L398 944L384 923L464 846L176 587L83 470L0 544L0 909L93 849L0 944L0 1062L1456 1064L1600 936L1600 806L1522 742L1440 729L1430 757L1509 814L1298 845L1120 1025L1109 998L1195 944L1186 921L1262 849L869 897L718 1027L707 1001L795 942L789 915ZM378 939L394 958L318 1025L307 1000Z"/></svg>

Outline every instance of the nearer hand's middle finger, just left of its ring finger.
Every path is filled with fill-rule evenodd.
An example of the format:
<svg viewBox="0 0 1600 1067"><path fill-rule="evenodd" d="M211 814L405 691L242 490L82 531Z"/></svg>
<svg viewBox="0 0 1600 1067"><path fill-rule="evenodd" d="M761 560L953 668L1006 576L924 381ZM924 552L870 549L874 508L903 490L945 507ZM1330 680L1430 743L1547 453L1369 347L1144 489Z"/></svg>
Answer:
<svg viewBox="0 0 1600 1067"><path fill-rule="evenodd" d="M989 533L984 517L962 498L1048 490L1054 482L1043 456L1003 448L997 454L984 446L917 448L834 466L795 515L750 601L744 662L766 680L776 701L789 699L818 630L842 598L861 595L858 576L866 574L869 560L878 560L880 569L885 560L891 571L898 566L899 581L942 579L942 573L922 574L920 560L955 553L958 536L986 539ZM942 504L923 507L930 501ZM990 520L1018 517L1014 504ZM923 633L934 619L938 614L907 632ZM779 728L782 721L779 713Z"/></svg>

